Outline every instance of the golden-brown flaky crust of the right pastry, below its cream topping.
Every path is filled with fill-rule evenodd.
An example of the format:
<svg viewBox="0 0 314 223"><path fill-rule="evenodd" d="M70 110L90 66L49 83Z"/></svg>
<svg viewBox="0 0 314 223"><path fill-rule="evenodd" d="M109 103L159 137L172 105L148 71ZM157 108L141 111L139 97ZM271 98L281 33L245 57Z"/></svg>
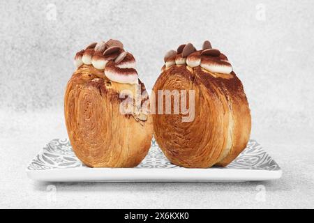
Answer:
<svg viewBox="0 0 314 223"><path fill-rule="evenodd" d="M200 53L190 55L195 54ZM181 112L153 115L154 137L173 164L189 168L225 167L246 148L251 114L241 81L233 71L222 74L201 66L170 66L163 68L154 85L156 98L158 90L195 92L193 121L182 122L181 117L186 115ZM154 107L160 106L158 100L155 103ZM171 106L173 111L173 103Z"/></svg>

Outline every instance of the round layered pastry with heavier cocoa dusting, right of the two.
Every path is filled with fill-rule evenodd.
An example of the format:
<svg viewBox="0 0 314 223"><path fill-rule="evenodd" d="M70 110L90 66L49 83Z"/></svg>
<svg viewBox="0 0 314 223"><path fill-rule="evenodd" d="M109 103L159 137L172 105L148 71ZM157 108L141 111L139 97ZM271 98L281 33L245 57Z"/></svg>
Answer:
<svg viewBox="0 0 314 223"><path fill-rule="evenodd" d="M160 100L158 95L165 90L172 93L171 114L166 112L166 97ZM186 107L177 114L176 92L186 92ZM243 86L227 56L212 49L209 41L202 50L188 43L168 52L152 96L154 136L173 164L224 167L246 148L251 114Z"/></svg>

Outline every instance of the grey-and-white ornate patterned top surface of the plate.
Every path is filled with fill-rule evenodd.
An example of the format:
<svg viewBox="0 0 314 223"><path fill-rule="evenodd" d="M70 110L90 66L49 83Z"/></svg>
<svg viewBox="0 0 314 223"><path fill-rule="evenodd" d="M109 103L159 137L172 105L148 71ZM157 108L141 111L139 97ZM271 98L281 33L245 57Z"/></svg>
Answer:
<svg viewBox="0 0 314 223"><path fill-rule="evenodd" d="M86 167L73 153L68 139L54 139L29 164L29 170L66 169ZM155 139L144 160L135 168L183 168L172 164L160 150ZM221 168L221 167L211 167ZM250 140L246 149L227 167L227 169L279 170L278 164L264 151L257 141Z"/></svg>

